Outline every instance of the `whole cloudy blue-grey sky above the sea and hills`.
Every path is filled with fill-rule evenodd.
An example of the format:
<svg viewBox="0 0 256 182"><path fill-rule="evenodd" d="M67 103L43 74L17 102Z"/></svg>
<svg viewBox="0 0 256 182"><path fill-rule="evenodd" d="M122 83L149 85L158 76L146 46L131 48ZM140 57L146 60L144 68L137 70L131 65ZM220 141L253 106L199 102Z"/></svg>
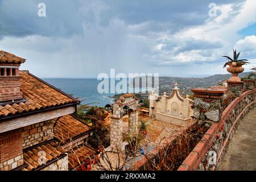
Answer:
<svg viewBox="0 0 256 182"><path fill-rule="evenodd" d="M45 3L46 17L38 16ZM209 16L210 3L216 16ZM233 48L256 65L255 0L0 0L0 49L36 76L227 73Z"/></svg>

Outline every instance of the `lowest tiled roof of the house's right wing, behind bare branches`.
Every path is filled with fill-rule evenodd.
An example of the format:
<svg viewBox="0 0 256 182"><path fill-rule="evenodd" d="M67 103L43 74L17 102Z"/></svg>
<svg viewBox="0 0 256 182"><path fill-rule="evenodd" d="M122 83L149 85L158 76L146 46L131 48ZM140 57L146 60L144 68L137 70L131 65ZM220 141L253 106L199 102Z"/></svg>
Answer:
<svg viewBox="0 0 256 182"><path fill-rule="evenodd" d="M68 154L68 168L69 170L76 169L81 164L86 164L90 159L90 163L94 162L94 156L97 155L96 150L89 146L81 146L76 150L71 150Z"/></svg>

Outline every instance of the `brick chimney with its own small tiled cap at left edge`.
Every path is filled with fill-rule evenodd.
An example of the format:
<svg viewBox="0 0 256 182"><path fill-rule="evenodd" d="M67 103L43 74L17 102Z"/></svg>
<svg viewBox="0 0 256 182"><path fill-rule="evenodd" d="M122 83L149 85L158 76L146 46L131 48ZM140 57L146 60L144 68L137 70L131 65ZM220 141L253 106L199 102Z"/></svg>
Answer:
<svg viewBox="0 0 256 182"><path fill-rule="evenodd" d="M22 100L19 67L26 59L0 51L0 104Z"/></svg>

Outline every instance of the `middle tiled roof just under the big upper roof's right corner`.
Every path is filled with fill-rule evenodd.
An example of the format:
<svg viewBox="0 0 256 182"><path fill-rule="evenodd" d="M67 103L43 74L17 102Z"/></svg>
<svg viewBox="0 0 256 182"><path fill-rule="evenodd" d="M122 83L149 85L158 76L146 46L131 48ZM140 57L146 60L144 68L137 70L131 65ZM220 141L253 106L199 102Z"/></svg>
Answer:
<svg viewBox="0 0 256 182"><path fill-rule="evenodd" d="M79 135L87 133L91 129L91 127L78 121L72 115L64 115L57 121L54 127L54 135L57 140L64 144Z"/></svg>

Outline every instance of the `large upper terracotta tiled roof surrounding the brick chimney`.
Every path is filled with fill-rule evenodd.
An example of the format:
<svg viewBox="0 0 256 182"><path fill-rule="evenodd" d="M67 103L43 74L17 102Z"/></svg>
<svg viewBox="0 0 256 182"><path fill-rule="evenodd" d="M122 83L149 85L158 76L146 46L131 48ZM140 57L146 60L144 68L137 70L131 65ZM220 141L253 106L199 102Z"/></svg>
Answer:
<svg viewBox="0 0 256 182"><path fill-rule="evenodd" d="M43 110L66 104L77 104L79 102L31 73L20 72L19 74L22 76L20 79L20 91L23 93L23 99L27 101L19 104L0 105L0 119L8 115Z"/></svg>

